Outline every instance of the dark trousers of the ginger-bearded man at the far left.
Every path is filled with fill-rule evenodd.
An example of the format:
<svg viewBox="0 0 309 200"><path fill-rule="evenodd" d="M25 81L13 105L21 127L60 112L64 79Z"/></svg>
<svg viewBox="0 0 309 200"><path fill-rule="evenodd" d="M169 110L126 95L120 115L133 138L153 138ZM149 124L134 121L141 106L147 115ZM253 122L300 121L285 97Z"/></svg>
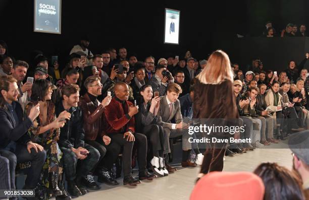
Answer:
<svg viewBox="0 0 309 200"><path fill-rule="evenodd" d="M15 155L17 163L31 161L31 167L28 170L24 188L34 188L39 181L41 170L46 159L46 152L44 150L36 152L32 148L29 154L25 145L17 145Z"/></svg>

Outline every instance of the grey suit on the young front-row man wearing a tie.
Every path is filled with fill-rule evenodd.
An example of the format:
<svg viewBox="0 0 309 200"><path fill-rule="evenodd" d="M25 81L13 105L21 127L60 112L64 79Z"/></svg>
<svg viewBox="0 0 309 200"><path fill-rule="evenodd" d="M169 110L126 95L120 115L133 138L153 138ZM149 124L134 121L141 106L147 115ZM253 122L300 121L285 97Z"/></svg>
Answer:
<svg viewBox="0 0 309 200"><path fill-rule="evenodd" d="M170 113L169 105L166 100L166 96L162 96L160 98L160 108L158 111L158 124L162 125L164 128L164 134L166 134L166 140L164 143L165 152L164 154L171 153L170 149L170 140L169 138L176 138L178 136L183 136L183 142L185 142L184 134L182 134L182 129L172 129L172 119L175 119L176 123L180 123L182 121L182 115L180 110L180 102L177 99L175 103L173 103L172 113ZM186 140L188 141L188 140ZM189 143L191 149L191 144Z"/></svg>

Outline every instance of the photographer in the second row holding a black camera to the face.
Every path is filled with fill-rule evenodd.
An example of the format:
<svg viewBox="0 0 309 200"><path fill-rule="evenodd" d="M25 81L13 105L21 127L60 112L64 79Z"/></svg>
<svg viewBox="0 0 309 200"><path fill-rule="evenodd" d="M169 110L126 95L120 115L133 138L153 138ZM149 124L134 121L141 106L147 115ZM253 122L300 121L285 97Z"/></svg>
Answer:
<svg viewBox="0 0 309 200"><path fill-rule="evenodd" d="M164 65L157 65L156 73L151 77L148 85L152 87L153 92L159 92L159 96L164 96L169 83L174 83L172 74L166 70Z"/></svg>

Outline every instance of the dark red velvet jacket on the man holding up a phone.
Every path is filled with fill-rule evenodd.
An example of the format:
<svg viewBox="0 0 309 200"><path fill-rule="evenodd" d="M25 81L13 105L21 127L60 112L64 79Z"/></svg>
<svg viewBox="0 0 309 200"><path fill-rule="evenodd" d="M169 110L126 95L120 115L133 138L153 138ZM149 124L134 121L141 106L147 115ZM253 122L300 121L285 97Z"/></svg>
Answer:
<svg viewBox="0 0 309 200"><path fill-rule="evenodd" d="M135 121L134 116L128 115L129 107L133 104L130 101L125 101L125 109L123 109L120 101L113 97L111 103L106 106L104 112L104 125L106 134L115 134L131 131L132 134L135 132Z"/></svg>

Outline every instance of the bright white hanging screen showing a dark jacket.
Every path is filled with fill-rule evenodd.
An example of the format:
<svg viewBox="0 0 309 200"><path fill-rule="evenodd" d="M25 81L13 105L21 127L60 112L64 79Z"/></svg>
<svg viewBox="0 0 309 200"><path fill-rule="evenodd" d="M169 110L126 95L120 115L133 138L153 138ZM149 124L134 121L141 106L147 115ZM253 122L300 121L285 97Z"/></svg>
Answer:
<svg viewBox="0 0 309 200"><path fill-rule="evenodd" d="M180 11L165 9L165 44L179 44L179 22Z"/></svg>

